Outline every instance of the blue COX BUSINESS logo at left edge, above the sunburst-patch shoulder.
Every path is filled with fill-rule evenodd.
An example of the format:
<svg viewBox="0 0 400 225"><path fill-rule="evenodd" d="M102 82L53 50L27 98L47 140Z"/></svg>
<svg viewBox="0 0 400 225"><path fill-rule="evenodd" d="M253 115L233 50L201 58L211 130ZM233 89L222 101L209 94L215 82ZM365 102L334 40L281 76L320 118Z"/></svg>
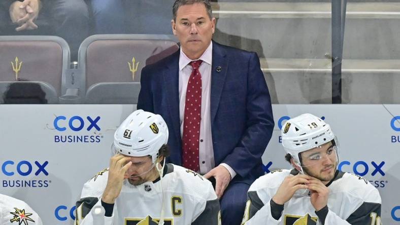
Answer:
<svg viewBox="0 0 400 225"><path fill-rule="evenodd" d="M3 179L3 187L48 187L51 180L36 179L42 176L48 176L46 166L49 164L45 162L29 162L20 161L14 162L11 160L2 163L2 173L7 177L13 178L15 176L22 176L22 179ZM24 176L33 175L34 179L23 179Z"/></svg>

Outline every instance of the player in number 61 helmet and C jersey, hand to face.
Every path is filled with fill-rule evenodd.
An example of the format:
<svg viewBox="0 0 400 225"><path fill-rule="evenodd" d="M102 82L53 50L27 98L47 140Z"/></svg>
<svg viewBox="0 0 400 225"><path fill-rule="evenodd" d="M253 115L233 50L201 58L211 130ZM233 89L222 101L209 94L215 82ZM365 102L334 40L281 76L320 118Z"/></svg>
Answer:
<svg viewBox="0 0 400 225"><path fill-rule="evenodd" d="M165 164L167 141L161 116L143 110L129 115L114 134L110 167L84 184L76 224L218 224L219 201L211 182ZM96 210L102 207L98 220Z"/></svg>

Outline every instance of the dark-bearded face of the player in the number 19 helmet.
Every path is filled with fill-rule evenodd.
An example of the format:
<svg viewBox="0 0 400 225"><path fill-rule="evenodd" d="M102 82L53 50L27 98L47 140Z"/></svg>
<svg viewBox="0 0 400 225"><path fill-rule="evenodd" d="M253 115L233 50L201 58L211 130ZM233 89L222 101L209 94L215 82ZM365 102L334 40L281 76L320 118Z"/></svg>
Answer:
<svg viewBox="0 0 400 225"><path fill-rule="evenodd" d="M335 177L338 157L332 142L305 151L301 156L302 168L308 175L325 182Z"/></svg>

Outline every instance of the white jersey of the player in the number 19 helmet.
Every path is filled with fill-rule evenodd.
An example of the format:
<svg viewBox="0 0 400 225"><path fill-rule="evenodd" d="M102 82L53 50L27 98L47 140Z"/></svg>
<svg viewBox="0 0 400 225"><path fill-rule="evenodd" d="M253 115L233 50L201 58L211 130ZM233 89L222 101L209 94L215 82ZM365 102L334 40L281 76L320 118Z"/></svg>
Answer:
<svg viewBox="0 0 400 225"><path fill-rule="evenodd" d="M248 201L242 224L322 224L310 202L309 191L305 189L296 191L284 204L279 220L274 219L271 214L270 200L283 179L297 173L296 170L276 170L255 180L247 193ZM325 225L381 224L381 197L368 180L355 174L337 171L335 178L327 186L329 210L325 217Z"/></svg>

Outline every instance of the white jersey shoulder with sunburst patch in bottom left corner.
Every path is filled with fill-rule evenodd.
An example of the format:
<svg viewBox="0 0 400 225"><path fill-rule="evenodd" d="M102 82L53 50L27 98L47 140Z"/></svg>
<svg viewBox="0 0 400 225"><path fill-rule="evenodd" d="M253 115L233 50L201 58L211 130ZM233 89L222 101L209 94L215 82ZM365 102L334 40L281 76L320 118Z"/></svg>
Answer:
<svg viewBox="0 0 400 225"><path fill-rule="evenodd" d="M25 202L0 194L0 225L42 225L38 213Z"/></svg>

